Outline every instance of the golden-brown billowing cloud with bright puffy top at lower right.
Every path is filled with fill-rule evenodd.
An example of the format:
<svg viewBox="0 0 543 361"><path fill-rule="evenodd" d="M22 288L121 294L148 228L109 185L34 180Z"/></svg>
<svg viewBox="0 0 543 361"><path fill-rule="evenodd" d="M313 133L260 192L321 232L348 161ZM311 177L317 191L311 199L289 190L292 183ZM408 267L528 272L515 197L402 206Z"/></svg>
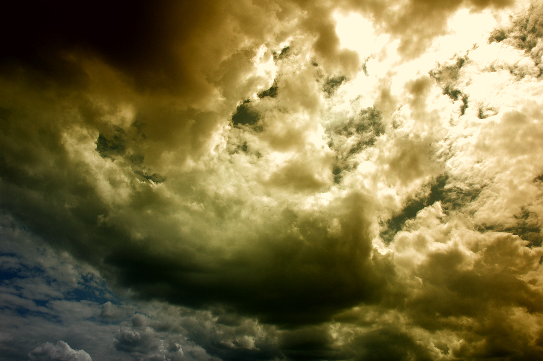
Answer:
<svg viewBox="0 0 543 361"><path fill-rule="evenodd" d="M458 330L464 341L447 346L458 356L539 352L528 346L534 335L516 325L539 318L541 294L529 280L539 277L540 248L527 248L527 241L510 233L466 229L462 219L444 216L439 204L419 212L407 227L411 231L396 235L395 249L399 264L414 272L405 307L415 324ZM418 280L424 281L415 286ZM468 319L471 326L465 328ZM510 328L523 336L508 333Z"/></svg>

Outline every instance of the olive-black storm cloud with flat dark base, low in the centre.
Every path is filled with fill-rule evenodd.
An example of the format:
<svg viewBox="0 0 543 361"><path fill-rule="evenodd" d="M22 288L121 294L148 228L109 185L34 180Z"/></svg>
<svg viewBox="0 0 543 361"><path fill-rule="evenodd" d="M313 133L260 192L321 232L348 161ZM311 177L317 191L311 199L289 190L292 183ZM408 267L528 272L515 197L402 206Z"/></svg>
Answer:
<svg viewBox="0 0 543 361"><path fill-rule="evenodd" d="M389 266L371 251L367 229L361 227L366 216L356 208L363 202L351 195L336 205L345 210L334 236L328 235L326 216L308 218L287 209L277 215L277 223L265 224L258 248L248 245L229 258L219 256L214 264L195 251L131 245L113 250L105 258L111 267L106 269L123 286L136 286L144 298L194 307L222 303L284 325L325 321L361 300L377 301L389 282L374 270ZM180 257L182 264L176 261Z"/></svg>

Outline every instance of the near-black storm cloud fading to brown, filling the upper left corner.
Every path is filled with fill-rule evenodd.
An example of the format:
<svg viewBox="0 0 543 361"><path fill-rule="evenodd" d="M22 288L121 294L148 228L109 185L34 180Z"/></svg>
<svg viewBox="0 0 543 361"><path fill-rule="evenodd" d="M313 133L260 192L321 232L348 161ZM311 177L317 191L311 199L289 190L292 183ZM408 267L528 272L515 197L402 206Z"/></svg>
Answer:
<svg viewBox="0 0 543 361"><path fill-rule="evenodd" d="M11 36L2 47L4 77L23 77L35 87L65 87L61 92L97 91L112 112L119 101L137 104L137 118L127 118L125 125L137 121L138 136L146 136L153 149L154 154L145 154L148 163L179 144L188 154L205 147L220 117L261 81L239 84L252 69L256 49L277 35L276 12L287 21L291 16L251 2L137 2L130 7L61 2L24 9L11 4L7 11L11 16L3 33ZM105 68L93 71L90 64ZM222 109L210 109L217 92L228 100L218 106ZM76 102L85 121L98 126L100 139L111 141L105 104ZM127 142L123 146L129 153L139 151L128 149Z"/></svg>

